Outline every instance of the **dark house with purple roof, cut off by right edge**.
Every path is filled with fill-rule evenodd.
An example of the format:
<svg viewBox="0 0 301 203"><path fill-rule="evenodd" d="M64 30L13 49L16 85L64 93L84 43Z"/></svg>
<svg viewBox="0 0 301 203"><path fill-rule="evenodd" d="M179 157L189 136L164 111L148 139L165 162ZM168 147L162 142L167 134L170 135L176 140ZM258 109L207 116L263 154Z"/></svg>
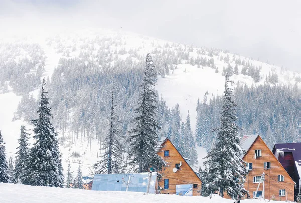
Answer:
<svg viewBox="0 0 301 203"><path fill-rule="evenodd" d="M301 194L301 143L275 144L273 153L297 185L294 189L296 201L297 194Z"/></svg>

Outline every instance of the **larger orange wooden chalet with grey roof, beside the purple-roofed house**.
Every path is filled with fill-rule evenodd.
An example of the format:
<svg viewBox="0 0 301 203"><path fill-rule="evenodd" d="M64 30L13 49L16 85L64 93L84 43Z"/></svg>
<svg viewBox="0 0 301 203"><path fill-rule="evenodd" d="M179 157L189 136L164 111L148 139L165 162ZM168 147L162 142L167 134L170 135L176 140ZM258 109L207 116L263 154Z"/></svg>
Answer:
<svg viewBox="0 0 301 203"><path fill-rule="evenodd" d="M249 170L245 188L250 198L293 201L295 182L262 138L259 135L245 135L240 143L246 150L242 158Z"/></svg>

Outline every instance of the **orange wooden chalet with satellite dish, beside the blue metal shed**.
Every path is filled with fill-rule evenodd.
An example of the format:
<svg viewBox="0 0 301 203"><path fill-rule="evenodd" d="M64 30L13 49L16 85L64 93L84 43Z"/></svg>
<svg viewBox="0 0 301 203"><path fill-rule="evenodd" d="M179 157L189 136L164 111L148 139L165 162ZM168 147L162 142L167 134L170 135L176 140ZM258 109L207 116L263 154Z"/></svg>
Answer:
<svg viewBox="0 0 301 203"><path fill-rule="evenodd" d="M160 143L158 155L167 162L167 166L158 172L162 175L158 181L159 191L162 194L199 196L202 184L199 174L194 172L169 138L162 139Z"/></svg>

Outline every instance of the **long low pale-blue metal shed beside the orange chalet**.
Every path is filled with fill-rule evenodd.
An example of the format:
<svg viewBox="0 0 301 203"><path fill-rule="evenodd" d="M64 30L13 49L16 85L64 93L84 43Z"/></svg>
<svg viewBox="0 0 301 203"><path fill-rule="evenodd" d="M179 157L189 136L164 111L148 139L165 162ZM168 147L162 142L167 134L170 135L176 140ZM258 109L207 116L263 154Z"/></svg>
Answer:
<svg viewBox="0 0 301 203"><path fill-rule="evenodd" d="M150 173L125 174L96 174L92 190L96 191L131 191L147 192ZM157 173L153 172L149 183L149 193L155 193L157 187Z"/></svg>

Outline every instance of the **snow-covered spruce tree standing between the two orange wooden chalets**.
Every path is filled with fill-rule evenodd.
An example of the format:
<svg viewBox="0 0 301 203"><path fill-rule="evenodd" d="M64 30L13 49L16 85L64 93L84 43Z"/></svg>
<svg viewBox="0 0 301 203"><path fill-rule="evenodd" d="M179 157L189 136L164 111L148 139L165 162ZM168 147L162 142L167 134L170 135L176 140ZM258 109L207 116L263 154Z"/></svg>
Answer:
<svg viewBox="0 0 301 203"><path fill-rule="evenodd" d="M229 82L231 81L227 74L220 118L221 126L215 129L217 139L213 149L206 156L207 160L204 162L206 175L203 175L202 179L205 179L205 187L209 193L220 191L220 195L223 196L225 191L232 198L241 198L248 195L244 188L248 171L245 162L241 159L244 150L240 145L239 128L235 124L237 105L232 99Z"/></svg>

